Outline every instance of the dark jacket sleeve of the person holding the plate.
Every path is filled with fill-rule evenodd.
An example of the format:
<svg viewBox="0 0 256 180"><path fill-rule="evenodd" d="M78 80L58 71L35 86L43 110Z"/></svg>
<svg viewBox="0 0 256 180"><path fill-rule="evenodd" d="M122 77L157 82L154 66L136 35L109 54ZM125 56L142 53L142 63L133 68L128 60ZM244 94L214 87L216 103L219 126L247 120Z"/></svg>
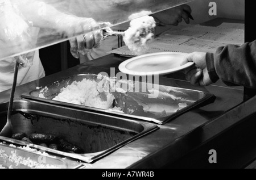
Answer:
<svg viewBox="0 0 256 180"><path fill-rule="evenodd" d="M256 40L220 47L215 54L207 53L206 61L213 82L220 78L228 86L256 89Z"/></svg>

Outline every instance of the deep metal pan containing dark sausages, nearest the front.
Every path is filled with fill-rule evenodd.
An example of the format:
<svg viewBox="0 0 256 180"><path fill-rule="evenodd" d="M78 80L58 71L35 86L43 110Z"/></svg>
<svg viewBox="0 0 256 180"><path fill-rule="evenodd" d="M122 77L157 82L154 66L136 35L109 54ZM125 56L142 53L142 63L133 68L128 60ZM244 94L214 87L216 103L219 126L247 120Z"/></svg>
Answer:
<svg viewBox="0 0 256 180"><path fill-rule="evenodd" d="M6 124L8 103L0 104L0 129ZM87 163L98 160L148 133L155 124L117 118L96 112L76 110L35 101L14 101L11 115L13 132L52 134L83 149L81 154L53 150L42 145L0 136L0 140L29 146Z"/></svg>

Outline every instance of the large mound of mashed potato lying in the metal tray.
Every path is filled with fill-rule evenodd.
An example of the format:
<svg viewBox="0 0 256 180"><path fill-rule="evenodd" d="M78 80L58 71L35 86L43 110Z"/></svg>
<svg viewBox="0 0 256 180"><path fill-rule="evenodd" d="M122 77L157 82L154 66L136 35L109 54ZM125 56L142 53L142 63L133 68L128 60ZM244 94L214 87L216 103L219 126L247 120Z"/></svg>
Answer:
<svg viewBox="0 0 256 180"><path fill-rule="evenodd" d="M63 88L61 93L53 100L79 104L82 106L96 107L104 110L113 108L114 95L103 91L98 87L96 81L83 79L80 82L73 82Z"/></svg>

